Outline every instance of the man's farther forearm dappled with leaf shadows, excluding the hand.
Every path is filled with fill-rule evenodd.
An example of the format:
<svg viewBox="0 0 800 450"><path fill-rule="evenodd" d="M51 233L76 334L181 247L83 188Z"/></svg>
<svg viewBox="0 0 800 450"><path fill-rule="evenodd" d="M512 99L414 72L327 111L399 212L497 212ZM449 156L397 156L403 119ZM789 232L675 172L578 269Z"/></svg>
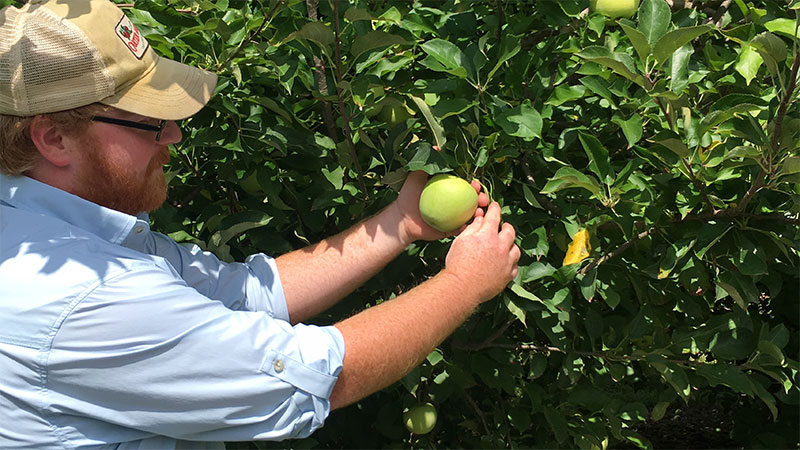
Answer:
<svg viewBox="0 0 800 450"><path fill-rule="evenodd" d="M394 204L315 245L276 258L292 323L329 308L392 261L408 242Z"/></svg>

